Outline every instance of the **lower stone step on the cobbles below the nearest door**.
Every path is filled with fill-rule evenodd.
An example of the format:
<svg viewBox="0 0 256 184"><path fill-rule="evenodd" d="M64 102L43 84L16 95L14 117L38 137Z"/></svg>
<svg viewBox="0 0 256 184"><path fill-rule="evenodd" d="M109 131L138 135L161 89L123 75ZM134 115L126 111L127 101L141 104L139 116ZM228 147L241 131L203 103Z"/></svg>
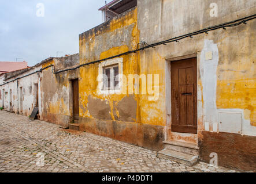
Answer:
<svg viewBox="0 0 256 184"><path fill-rule="evenodd" d="M183 152L169 150L167 148L157 152L157 157L170 159L178 163L187 164L188 166L194 166L196 163L198 163L198 160L199 160L198 156L184 154Z"/></svg>

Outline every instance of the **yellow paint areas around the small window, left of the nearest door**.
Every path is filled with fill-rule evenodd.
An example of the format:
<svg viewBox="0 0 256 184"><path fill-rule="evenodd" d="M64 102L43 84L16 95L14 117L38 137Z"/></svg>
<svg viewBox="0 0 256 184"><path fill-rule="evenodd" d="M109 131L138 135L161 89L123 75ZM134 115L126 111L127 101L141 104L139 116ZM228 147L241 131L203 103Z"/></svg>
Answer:
<svg viewBox="0 0 256 184"><path fill-rule="evenodd" d="M90 51L94 51L98 45L109 45L110 43L106 41L103 43L97 42L95 37L98 37L99 34L103 34L103 37L106 33L110 33L113 35L120 34L120 32L127 31L127 26L133 26L132 32L129 32L129 45L121 45L119 47L111 47L104 51L101 49L100 56L94 55L92 57L87 57L84 53L86 53L86 49ZM122 41L122 40L117 40ZM118 55L119 53L127 52L131 49L136 49L137 44L139 42L139 30L137 28L137 10L133 10L133 12L125 15L124 17L116 18L113 21L109 22L109 27L107 29L101 30L101 32L95 32L90 34L89 37L83 37L80 39L80 64L84 64L86 62L91 62L96 59L104 59L110 56ZM86 45L86 46L85 46ZM95 46L96 45L96 46ZM146 51L145 51L146 52ZM159 85L162 97L164 97L164 66L160 66L158 63L158 58L160 57L157 53L154 53L154 60L149 60L149 63L140 63L140 53L132 53L130 55L121 56L123 57L123 74L127 76L128 83L128 75L129 74L160 74L159 76ZM150 66L150 67L148 67ZM128 95L128 87L127 87L127 95L126 94L113 94L113 95L99 95L97 94L97 76L98 76L98 64L92 64L90 66L80 68L80 82L79 82L79 94L80 94L80 116L81 117L90 117L90 112L87 109L88 96L91 95L94 98L101 99L103 101L107 101L110 106L110 115L112 120L115 120L114 114L118 114L118 109L113 107L113 103L118 103L125 96ZM153 85L154 85L154 77L153 77ZM140 85L141 91L141 85ZM152 95L150 95L152 96ZM134 98L137 102L137 114L136 119L133 122L139 122L142 124L150 124L150 125L165 125L165 118L162 114L165 113L165 108L162 105L164 102L162 100L158 101L149 101L149 95L135 95Z"/></svg>

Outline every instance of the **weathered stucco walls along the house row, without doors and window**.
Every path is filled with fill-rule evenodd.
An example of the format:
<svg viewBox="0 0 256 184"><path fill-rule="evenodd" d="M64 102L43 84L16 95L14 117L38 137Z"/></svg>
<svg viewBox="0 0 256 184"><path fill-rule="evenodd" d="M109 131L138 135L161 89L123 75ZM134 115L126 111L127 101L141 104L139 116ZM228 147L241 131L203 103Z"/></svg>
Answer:
<svg viewBox="0 0 256 184"><path fill-rule="evenodd" d="M137 7L81 33L79 55L53 58L43 63L42 68L51 64L56 71L72 68L135 50L142 46L140 43L152 44L251 16L256 10L253 0L216 0L218 16L211 17L210 3L210 0L193 3L187 0L138 0ZM29 91L33 91L32 84L38 82L42 119L67 126L73 120L71 80L79 78L80 131L154 150L161 150L164 140L195 143L200 147L202 160L209 161L209 154L216 152L220 165L250 170L250 164L255 163L255 149L251 149L251 145L255 147L256 141L255 30L255 20L251 20L247 24L213 30L116 58L121 74L127 79L134 74L147 76L146 86L142 87L140 83L139 94L134 93L135 89L131 93L128 87L129 82L134 83L133 79L122 81L121 94L99 93L101 67L114 60L55 75L48 68L39 76L35 74L19 80L19 85L25 89L24 113L31 110L34 97ZM198 133L177 133L171 128L171 62L192 57L197 60ZM151 74L154 75L152 80L149 78ZM150 81L154 90L149 89ZM1 95L11 88L13 94L18 94L16 85L13 82L1 86ZM145 89L147 94L142 94ZM155 93L150 93L151 90ZM13 99L17 97L13 95ZM8 104L5 101L5 109ZM246 144L246 153L242 149L243 141L250 142ZM227 156L229 159L225 159ZM240 156L237 163L230 159L236 156Z"/></svg>

